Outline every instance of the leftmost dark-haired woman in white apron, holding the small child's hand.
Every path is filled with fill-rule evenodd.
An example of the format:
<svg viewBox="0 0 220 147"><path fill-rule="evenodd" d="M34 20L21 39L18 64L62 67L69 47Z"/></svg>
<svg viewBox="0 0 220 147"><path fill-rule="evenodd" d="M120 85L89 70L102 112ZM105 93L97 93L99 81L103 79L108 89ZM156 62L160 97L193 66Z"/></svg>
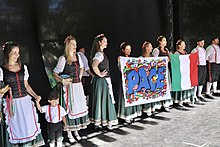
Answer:
<svg viewBox="0 0 220 147"><path fill-rule="evenodd" d="M40 98L28 84L29 73L26 65L20 62L20 49L13 42L3 46L4 65L0 68L0 85L9 85L11 89L3 97L5 132L0 146L42 146L38 115L32 97ZM6 125L4 125L5 123Z"/></svg>

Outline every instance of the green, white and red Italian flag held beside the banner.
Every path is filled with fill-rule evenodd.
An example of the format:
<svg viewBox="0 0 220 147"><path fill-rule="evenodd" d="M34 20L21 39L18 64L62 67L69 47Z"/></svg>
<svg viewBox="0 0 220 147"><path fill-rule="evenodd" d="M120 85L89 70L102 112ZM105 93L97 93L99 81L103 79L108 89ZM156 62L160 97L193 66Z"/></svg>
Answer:
<svg viewBox="0 0 220 147"><path fill-rule="evenodd" d="M198 85L198 53L170 55L172 91L191 89Z"/></svg>

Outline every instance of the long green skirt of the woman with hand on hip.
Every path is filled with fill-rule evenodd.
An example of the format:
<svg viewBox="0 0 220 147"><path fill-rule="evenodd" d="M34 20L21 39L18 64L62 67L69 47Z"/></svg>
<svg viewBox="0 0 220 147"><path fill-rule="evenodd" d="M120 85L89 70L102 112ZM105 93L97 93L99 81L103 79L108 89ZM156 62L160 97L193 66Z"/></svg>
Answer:
<svg viewBox="0 0 220 147"><path fill-rule="evenodd" d="M110 80L110 78L108 79ZM111 97L111 89L106 78L94 76L92 79L92 91L89 98L89 118L95 126L117 125L114 100Z"/></svg>

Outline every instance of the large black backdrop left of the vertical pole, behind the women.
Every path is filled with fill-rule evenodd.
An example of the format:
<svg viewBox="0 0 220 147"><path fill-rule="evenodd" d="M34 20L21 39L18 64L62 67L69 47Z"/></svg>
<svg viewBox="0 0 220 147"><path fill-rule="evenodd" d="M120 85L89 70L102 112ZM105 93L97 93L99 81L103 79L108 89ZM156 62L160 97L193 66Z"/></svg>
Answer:
<svg viewBox="0 0 220 147"><path fill-rule="evenodd" d="M20 45L22 62L30 72L29 83L46 97L50 83L44 63L54 67L63 53L65 37L75 36L78 46L84 46L89 57L94 37L104 33L109 42L105 52L114 86L118 82L116 61L123 41L132 45L132 56L140 56L145 40L156 46L159 35L169 38L167 3L167 0L0 0L0 44L12 40Z"/></svg>

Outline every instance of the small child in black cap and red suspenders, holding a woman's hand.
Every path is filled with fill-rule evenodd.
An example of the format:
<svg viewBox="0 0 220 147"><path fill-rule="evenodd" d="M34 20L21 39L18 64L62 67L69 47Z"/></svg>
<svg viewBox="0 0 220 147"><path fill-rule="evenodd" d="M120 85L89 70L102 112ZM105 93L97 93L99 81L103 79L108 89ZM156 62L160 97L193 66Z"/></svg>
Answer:
<svg viewBox="0 0 220 147"><path fill-rule="evenodd" d="M40 98L36 100L37 109L41 113L45 113L45 118L48 122L48 136L50 139L50 147L55 147L55 141L57 141L57 147L62 147L62 122L64 123L64 130L67 129L66 124L66 111L59 105L59 95L56 91L52 91L49 95L49 105L40 106Z"/></svg>

